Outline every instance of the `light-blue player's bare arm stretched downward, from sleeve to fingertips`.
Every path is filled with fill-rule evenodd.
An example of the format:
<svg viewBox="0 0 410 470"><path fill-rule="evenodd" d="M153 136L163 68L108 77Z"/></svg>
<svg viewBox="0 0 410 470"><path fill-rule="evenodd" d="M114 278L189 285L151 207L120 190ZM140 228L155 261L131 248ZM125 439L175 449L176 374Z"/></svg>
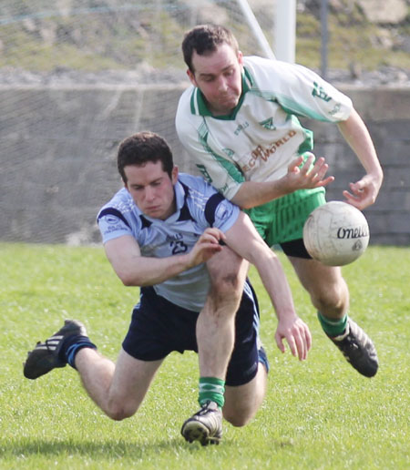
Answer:
<svg viewBox="0 0 410 470"><path fill-rule="evenodd" d="M292 354L301 361L306 359L312 345L312 336L308 326L295 312L291 288L281 261L264 243L249 217L243 212L225 235L228 246L250 261L261 276L278 317L275 334L278 348L284 352L282 341L286 339Z"/></svg>

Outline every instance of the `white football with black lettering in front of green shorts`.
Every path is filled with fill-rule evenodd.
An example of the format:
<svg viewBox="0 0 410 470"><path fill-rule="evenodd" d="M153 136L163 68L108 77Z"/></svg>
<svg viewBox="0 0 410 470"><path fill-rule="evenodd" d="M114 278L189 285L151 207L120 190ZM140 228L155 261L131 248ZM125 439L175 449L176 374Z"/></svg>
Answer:
<svg viewBox="0 0 410 470"><path fill-rule="evenodd" d="M343 266L357 260L369 244L364 214L346 202L333 200L313 210L303 227L303 242L314 260Z"/></svg>

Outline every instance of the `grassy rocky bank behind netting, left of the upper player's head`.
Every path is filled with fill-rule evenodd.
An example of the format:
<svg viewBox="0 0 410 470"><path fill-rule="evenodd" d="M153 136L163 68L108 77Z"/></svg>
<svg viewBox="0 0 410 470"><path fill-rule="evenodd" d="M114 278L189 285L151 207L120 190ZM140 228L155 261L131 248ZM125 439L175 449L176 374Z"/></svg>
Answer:
<svg viewBox="0 0 410 470"><path fill-rule="evenodd" d="M44 10L42 17L37 10L0 23L0 67L98 71L132 69L142 61L156 67L181 62L183 29L165 11L84 8L68 16Z"/></svg>

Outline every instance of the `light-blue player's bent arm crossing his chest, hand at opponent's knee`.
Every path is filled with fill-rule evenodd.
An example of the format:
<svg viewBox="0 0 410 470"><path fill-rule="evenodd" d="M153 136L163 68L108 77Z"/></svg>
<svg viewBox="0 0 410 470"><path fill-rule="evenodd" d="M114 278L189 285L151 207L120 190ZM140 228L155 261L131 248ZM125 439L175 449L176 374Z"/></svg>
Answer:
<svg viewBox="0 0 410 470"><path fill-rule="evenodd" d="M109 262L123 284L142 287L167 281L182 271L208 261L221 250L221 236L223 234L220 230L207 229L189 253L166 258L142 256L138 242L131 235L109 240L104 248Z"/></svg>

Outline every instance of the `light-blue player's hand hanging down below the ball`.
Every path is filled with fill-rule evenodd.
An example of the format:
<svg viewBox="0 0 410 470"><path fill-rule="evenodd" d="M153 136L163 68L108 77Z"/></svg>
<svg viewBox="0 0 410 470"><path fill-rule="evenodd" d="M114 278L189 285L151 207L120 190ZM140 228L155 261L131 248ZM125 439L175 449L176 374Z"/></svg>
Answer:
<svg viewBox="0 0 410 470"><path fill-rule="evenodd" d="M297 315L284 317L278 322L275 340L282 353L285 352L284 339L289 344L294 357L298 357L300 361L307 358L312 347L312 335L307 324Z"/></svg>

